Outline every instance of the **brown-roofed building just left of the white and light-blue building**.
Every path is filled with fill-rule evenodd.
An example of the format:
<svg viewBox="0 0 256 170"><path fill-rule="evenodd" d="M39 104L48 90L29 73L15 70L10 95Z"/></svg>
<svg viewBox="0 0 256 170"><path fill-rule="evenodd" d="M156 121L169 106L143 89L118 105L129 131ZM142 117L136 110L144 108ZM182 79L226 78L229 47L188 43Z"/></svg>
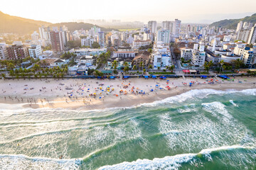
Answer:
<svg viewBox="0 0 256 170"><path fill-rule="evenodd" d="M149 56L150 53L147 51L139 52L139 54L132 60L132 65L135 65L137 69L144 69L149 64ZM143 63L142 67L140 65L141 62Z"/></svg>

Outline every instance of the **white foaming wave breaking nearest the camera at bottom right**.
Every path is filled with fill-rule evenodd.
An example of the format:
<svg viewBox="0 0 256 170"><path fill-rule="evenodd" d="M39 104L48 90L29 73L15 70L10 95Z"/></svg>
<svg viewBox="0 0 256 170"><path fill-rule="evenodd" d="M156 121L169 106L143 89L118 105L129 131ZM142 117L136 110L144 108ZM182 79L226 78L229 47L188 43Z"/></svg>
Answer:
<svg viewBox="0 0 256 170"><path fill-rule="evenodd" d="M212 149L203 149L197 154L177 154L171 157L164 158L154 158L149 159L137 159L134 162L122 162L120 164L107 165L100 167L100 170L105 169L178 169L182 164L191 163L193 164L193 159L200 157L209 157L208 155L212 152L220 152L223 150L231 149L255 149L254 147L241 147L238 145L218 147Z"/></svg>

